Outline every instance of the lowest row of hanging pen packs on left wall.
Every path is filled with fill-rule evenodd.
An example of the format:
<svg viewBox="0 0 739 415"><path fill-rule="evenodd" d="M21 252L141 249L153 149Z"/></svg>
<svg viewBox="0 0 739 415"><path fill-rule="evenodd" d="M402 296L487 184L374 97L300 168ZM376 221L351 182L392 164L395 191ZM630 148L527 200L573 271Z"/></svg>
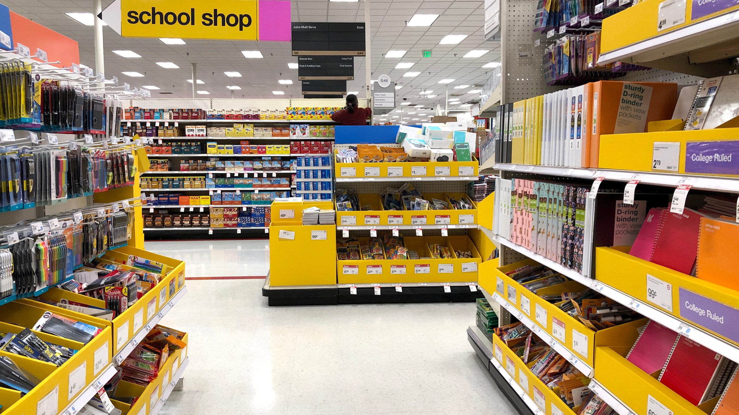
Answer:
<svg viewBox="0 0 739 415"><path fill-rule="evenodd" d="M41 295L107 250L126 245L137 205L139 199L126 199L0 228L0 303Z"/></svg>

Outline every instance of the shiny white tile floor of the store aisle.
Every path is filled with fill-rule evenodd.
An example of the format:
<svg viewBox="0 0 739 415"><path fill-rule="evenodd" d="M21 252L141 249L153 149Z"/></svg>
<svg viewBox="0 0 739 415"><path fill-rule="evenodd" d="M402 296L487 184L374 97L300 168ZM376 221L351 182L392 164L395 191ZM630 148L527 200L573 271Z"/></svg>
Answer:
<svg viewBox="0 0 739 415"><path fill-rule="evenodd" d="M146 248L187 276L268 267L268 241ZM161 414L515 414L467 342L474 303L269 307L262 284L188 281L162 323L189 333L190 366Z"/></svg>

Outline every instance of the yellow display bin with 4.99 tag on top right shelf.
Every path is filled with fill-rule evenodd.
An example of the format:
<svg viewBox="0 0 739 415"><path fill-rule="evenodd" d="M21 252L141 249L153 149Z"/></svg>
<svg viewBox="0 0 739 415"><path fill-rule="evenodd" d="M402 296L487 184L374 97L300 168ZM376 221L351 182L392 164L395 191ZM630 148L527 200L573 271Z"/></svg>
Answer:
<svg viewBox="0 0 739 415"><path fill-rule="evenodd" d="M692 20L692 6L694 3L692 1L687 1L687 4L684 5L684 23L675 24L675 26L668 27L664 30L658 30L659 7L661 3L662 2L660 0L640 1L638 4L629 7L626 10L621 10L613 16L608 16L603 19L603 30L601 32L600 43L601 54L621 47L627 47L630 44L636 44L640 41L646 41L647 39L653 38L657 35L663 35L672 30L688 26L689 24L705 20L706 18L718 16L722 13L727 13L739 7L727 7L724 10Z"/></svg>

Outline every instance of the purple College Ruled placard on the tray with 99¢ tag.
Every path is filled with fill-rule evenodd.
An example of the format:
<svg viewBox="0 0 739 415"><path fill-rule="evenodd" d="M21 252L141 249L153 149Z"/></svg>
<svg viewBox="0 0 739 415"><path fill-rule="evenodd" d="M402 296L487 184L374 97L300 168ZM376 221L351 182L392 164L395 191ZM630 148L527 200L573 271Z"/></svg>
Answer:
<svg viewBox="0 0 739 415"><path fill-rule="evenodd" d="M739 310L687 289L680 289L680 316L739 342Z"/></svg>

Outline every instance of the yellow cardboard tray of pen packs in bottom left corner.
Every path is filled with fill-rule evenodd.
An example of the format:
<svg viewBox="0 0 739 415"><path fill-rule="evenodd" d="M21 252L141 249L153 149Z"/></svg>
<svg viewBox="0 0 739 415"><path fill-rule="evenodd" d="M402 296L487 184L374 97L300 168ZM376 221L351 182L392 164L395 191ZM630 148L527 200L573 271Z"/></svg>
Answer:
<svg viewBox="0 0 739 415"><path fill-rule="evenodd" d="M50 306L47 306L47 304L37 304L38 306L13 301L0 306L0 320L5 323L12 322L22 327L32 328L36 321L44 315L44 312L50 310ZM41 414L44 411L47 414L58 414L109 366L112 362L113 350L110 322L107 325L101 325L88 318L78 318L78 320L100 327L103 331L84 346L81 343L71 342L78 345L75 347L78 352L58 368L54 368L53 365L48 363L45 363L47 366L39 365L38 363L43 362L33 359L25 360L24 357L15 354L3 354L10 356L16 363L22 360L21 367L34 368L35 373L32 371L32 374L39 377L41 383L24 397L20 397L20 394L16 394L14 391L0 388L0 405L4 409L2 414ZM61 337L56 338L61 340L58 342L61 346L72 346L70 344L71 340L62 339ZM51 341L57 343L53 338L51 338ZM44 376L39 376L43 374L44 367L50 368L52 371Z"/></svg>

